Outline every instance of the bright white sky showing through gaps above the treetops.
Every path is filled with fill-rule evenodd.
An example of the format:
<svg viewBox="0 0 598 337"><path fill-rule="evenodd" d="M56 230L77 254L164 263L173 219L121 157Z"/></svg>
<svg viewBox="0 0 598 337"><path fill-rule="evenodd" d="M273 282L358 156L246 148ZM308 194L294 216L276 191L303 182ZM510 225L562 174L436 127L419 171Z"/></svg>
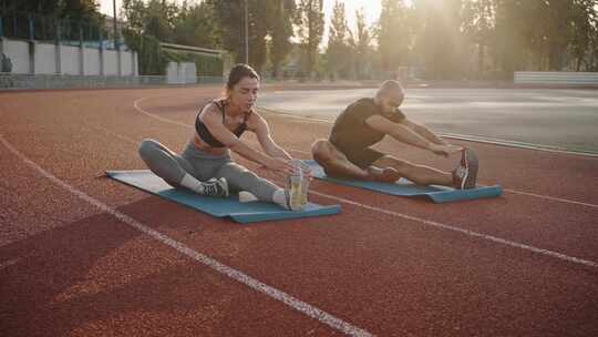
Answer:
<svg viewBox="0 0 598 337"><path fill-rule="evenodd" d="M96 0L100 2L100 11L104 14L112 17L112 3L113 0ZM183 0L166 0L168 2L183 3ZM332 7L334 6L336 0L324 0L324 14L327 22L330 21L332 14ZM193 3L194 0L188 0L187 2ZM195 2L199 2L195 0ZM343 0L344 10L347 14L347 21L351 29L355 29L355 10L360 8L365 9L365 20L369 24L378 20L380 16L380 0ZM118 10L122 4L122 0L116 0L116 9ZM120 12L117 13L120 16ZM328 30L328 29L327 29Z"/></svg>

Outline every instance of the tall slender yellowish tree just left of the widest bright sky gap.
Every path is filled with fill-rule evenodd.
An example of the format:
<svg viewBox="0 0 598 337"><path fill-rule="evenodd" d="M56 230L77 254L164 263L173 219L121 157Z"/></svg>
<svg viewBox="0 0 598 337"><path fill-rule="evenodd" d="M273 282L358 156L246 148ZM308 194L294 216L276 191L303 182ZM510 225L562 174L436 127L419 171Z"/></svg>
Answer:
<svg viewBox="0 0 598 337"><path fill-rule="evenodd" d="M322 41L323 17L323 0L299 0L296 24L306 55L305 71L310 78L313 75L319 55L318 47Z"/></svg>

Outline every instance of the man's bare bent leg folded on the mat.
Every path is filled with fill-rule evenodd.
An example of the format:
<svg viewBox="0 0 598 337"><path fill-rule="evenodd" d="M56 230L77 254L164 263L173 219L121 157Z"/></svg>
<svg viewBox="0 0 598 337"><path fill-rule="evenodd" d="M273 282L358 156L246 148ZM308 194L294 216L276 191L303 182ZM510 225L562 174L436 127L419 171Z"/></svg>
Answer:
<svg viewBox="0 0 598 337"><path fill-rule="evenodd" d="M311 146L311 154L329 175L386 182L394 182L401 177L395 170L377 170L377 167L363 170L357 166L327 140L316 141Z"/></svg>

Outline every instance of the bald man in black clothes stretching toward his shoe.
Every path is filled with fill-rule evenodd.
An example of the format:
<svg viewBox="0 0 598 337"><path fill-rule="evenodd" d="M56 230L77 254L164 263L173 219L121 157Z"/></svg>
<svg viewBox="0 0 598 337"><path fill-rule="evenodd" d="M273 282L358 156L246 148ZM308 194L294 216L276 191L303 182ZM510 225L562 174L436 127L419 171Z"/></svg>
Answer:
<svg viewBox="0 0 598 337"><path fill-rule="evenodd" d="M313 159L331 176L380 182L406 177L420 185L474 188L478 166L475 153L451 145L427 127L406 119L399 110L403 99L401 84L390 80L382 83L373 99L350 104L337 118L329 140L313 143ZM460 165L452 172L444 172L370 149L385 135L437 155L462 152Z"/></svg>

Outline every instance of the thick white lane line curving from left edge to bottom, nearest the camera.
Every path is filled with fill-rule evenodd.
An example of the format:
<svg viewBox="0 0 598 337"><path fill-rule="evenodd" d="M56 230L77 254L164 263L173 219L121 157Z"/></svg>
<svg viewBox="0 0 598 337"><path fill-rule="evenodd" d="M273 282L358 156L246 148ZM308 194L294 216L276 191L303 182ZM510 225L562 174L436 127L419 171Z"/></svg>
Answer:
<svg viewBox="0 0 598 337"><path fill-rule="evenodd" d="M84 192L80 191L80 190L76 190L75 187L69 185L68 183L61 181L60 178L58 178L56 176L54 176L53 174L51 174L50 172L43 170L40 165L38 165L35 162L31 161L30 159L28 159L24 154L22 154L19 150L17 150L14 146L12 146L11 143L9 143L4 137L3 135L0 134L0 142L12 153L14 154L16 156L18 156L21 161L23 161L25 164L28 164L29 166L33 167L35 171L38 171L41 175L43 175L44 177L49 178L50 181L52 181L54 184L65 188L66 191L71 192L72 194L76 195L78 197L80 197L81 200L94 205L95 207L100 208L101 211L116 217L117 219L120 219L121 222L130 225L131 227L153 237L154 239L156 241L159 241L161 243L167 245L167 246L171 246L172 248L176 249L177 252L213 268L214 270L225 275L225 276L228 276L235 280L238 280L245 285L247 285L248 287L255 289L255 290L258 290L258 292L261 292L266 295L268 295L269 297L276 299L276 300L279 300L286 305L288 305L289 307L311 317L311 318L315 318L315 319L318 319L320 323L323 323L339 331L342 331L347 335L350 335L350 336L373 336L372 334L370 334L369 331L364 330L364 329L361 329L357 326L353 326L351 325L350 323L347 323L340 318L337 318L336 316L332 316L331 314L328 314L327 312L323 312L308 303L305 303L296 297L292 297L291 295L282 292L282 290L279 290L275 287L271 287L267 284L264 284L261 282L259 282L258 279L256 278L252 278L251 276L248 276L246 274L244 274L243 272L240 270L237 270L235 268L231 268L229 266L226 266L221 263L219 263L218 261L207 256L207 255L204 255L202 253L198 253L192 248L189 248L188 246L186 246L185 244L183 243L179 243L175 239L173 239L172 237L165 235L165 234L162 234L155 229L152 229L151 227L142 224L141 222L134 219L133 217L122 213L122 212L118 212L116 211L115 208L113 207L110 207L109 205L102 203L101 201L85 194Z"/></svg>

